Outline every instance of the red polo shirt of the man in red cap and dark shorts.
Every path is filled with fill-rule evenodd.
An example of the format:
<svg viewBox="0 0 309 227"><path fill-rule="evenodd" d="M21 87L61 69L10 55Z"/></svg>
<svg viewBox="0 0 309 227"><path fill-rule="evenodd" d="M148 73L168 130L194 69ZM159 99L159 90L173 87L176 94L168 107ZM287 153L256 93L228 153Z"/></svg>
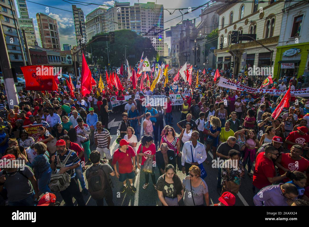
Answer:
<svg viewBox="0 0 309 227"><path fill-rule="evenodd" d="M131 146L128 146L128 150L125 153L118 148L114 153L112 165L115 165L118 161L119 173L132 173L132 157L135 157L135 152Z"/></svg>

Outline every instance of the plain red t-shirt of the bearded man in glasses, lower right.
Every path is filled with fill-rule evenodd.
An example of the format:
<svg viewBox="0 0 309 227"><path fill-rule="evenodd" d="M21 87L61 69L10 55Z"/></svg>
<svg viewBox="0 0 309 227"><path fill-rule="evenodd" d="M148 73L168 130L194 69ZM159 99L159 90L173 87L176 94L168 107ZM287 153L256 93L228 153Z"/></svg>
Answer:
<svg viewBox="0 0 309 227"><path fill-rule="evenodd" d="M275 166L272 160L264 156L265 152L257 155L253 172L253 185L256 188L264 188L271 185L267 177L276 176Z"/></svg>

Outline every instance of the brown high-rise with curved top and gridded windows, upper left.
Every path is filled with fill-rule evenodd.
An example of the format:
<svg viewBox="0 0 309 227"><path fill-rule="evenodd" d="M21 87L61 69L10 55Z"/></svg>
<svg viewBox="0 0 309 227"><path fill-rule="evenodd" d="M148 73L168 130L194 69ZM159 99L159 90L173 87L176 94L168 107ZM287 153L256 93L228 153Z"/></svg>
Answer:
<svg viewBox="0 0 309 227"><path fill-rule="evenodd" d="M57 20L43 13L36 14L42 47L50 50L61 50Z"/></svg>

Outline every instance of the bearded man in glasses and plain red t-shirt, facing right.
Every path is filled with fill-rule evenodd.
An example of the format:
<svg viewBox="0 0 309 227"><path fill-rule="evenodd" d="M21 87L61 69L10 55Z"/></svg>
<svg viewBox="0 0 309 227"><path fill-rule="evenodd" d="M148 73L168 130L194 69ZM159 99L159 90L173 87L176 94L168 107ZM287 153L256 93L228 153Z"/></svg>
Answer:
<svg viewBox="0 0 309 227"><path fill-rule="evenodd" d="M256 194L262 188L286 178L286 173L281 176L276 176L273 161L275 161L278 156L279 151L271 145L267 145L265 147L265 152L261 152L257 155L253 172L253 193Z"/></svg>

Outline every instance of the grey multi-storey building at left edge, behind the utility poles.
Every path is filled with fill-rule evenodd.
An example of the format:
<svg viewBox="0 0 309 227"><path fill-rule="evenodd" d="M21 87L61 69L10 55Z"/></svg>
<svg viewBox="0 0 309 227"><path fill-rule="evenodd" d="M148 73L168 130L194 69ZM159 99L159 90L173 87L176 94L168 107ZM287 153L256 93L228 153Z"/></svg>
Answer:
<svg viewBox="0 0 309 227"><path fill-rule="evenodd" d="M20 44L19 44L19 39L17 35L17 31L15 29L15 23L13 19L13 14L15 16L15 19L17 20L17 13L16 13L16 8L15 8L15 2L14 0L11 1L12 4L12 9L11 10L11 4L9 1L2 1L0 0L0 19L2 23L2 28L3 28L3 33L5 34L5 40L6 40L6 47L7 47L7 52L9 54L10 62L11 62L11 67L15 68L16 73L22 73L20 70L20 66L24 66L23 64L23 58L22 58L22 53L20 50ZM17 27L19 27L18 21L16 21ZM19 36L21 36L21 32L19 30ZM24 57L27 62L27 56L26 52L24 49L23 45L23 39L20 40L22 42L22 47L24 51ZM3 51L3 50L0 50Z"/></svg>

